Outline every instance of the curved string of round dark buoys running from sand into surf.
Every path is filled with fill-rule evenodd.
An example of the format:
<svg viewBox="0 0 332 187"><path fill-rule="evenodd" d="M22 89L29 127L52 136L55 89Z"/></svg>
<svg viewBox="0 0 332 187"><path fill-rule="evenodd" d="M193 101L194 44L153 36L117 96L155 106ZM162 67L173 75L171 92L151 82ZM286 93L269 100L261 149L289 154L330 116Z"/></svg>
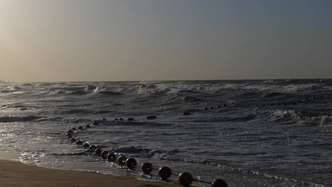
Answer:
<svg viewBox="0 0 332 187"><path fill-rule="evenodd" d="M148 116L147 119L154 119L156 116ZM106 119L102 119L106 120ZM115 120L123 120L122 118L115 119ZM127 120L131 121L134 120L133 118L128 118ZM98 125L99 123L97 121L94 121L92 125ZM85 129L91 128L91 125L87 124L85 126ZM95 155L100 156L104 160L108 160L110 162L115 162L119 166L126 166L128 169L132 170L136 166L139 166L134 158L127 158L124 155L118 155L116 157L115 153L109 153L107 151L102 151L101 149L98 149L95 145L90 145L88 142L82 141L82 139L76 139L72 136L72 133L74 130L83 130L84 128L82 126L79 126L77 129L75 127L71 128L70 130L66 131L66 138L69 139L69 141L74 142L76 145L81 145L83 148L88 149L90 151L93 151ZM183 185L184 187L189 186L193 181L200 182L200 183L206 183L211 184L211 187L228 187L227 183L222 179L215 179L212 182L206 182L201 180L196 180L193 178L193 176L186 171L181 172L179 175L176 175L172 173L172 170L166 166L163 166L159 169L153 168L152 164L149 162L145 162L141 165L141 170L144 174L150 174L152 170L158 170L158 176L162 180L167 180L171 175L177 176L179 183Z"/></svg>

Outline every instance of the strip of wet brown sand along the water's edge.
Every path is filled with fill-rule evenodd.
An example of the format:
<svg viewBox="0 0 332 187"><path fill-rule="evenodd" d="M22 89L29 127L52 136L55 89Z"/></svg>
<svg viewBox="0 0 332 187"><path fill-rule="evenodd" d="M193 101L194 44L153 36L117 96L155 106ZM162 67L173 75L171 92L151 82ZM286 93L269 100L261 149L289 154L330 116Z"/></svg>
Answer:
<svg viewBox="0 0 332 187"><path fill-rule="evenodd" d="M57 170L10 160L17 153L0 152L0 187L182 187L87 171Z"/></svg>

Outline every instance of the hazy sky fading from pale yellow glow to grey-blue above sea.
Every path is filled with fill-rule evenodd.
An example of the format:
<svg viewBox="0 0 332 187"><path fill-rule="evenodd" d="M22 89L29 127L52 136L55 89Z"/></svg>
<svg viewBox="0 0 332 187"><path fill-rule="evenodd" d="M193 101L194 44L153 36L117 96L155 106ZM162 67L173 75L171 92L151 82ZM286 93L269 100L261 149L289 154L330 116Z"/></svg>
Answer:
<svg viewBox="0 0 332 187"><path fill-rule="evenodd" d="M2 81L332 78L332 0L0 0Z"/></svg>

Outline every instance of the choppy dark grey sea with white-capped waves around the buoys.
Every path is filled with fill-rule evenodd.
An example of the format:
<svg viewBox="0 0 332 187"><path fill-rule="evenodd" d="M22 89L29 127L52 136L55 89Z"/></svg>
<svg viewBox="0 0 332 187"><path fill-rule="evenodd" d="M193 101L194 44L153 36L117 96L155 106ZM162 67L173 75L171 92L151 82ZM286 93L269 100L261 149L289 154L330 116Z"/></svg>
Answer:
<svg viewBox="0 0 332 187"><path fill-rule="evenodd" d="M332 186L332 80L0 82L0 150L43 167L158 180L66 139L93 120L75 137L139 164L231 187Z"/></svg>

